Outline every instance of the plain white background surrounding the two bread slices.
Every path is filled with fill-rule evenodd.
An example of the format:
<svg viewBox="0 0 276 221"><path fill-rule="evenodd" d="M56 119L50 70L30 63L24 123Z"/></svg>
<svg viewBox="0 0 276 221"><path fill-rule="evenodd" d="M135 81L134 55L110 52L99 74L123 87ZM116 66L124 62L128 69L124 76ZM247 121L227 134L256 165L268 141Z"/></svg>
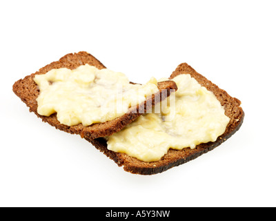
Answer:
<svg viewBox="0 0 276 221"><path fill-rule="evenodd" d="M276 206L275 1L1 1L0 206ZM187 62L242 101L224 144L127 173L29 113L14 81L70 52L144 83Z"/></svg>

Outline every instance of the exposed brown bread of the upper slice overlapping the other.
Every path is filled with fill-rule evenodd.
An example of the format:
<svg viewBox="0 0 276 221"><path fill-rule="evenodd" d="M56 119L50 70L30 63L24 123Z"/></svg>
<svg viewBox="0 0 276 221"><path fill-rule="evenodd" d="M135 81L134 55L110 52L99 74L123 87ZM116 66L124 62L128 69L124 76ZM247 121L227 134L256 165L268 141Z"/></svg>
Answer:
<svg viewBox="0 0 276 221"><path fill-rule="evenodd" d="M152 95L144 103L130 108L128 113L125 115L117 117L109 122L92 124L91 126L83 126L82 124L78 124L76 126L66 126L59 123L57 120L57 114L50 115L50 117L39 115L37 113L37 97L39 96L39 87L33 80L34 76L46 74L49 70L55 68L75 69L83 64L90 64L91 66L95 66L99 69L106 68L100 61L87 52L68 54L61 57L59 61L52 62L51 64L39 69L37 73L28 75L24 79L20 79L15 82L13 85L13 91L24 103L26 103L26 105L30 108L30 111L40 117L43 122L47 122L61 131L66 131L72 134L80 134L81 137L95 139L97 137L109 136L112 135L112 133L121 131L121 128L124 128L124 126L130 124L137 117L139 117L139 115L146 113L146 108L149 108L152 104L160 102L162 99L166 99L166 97L170 95L170 89L177 90L177 86L174 81L160 82L158 84L160 96L155 97Z"/></svg>

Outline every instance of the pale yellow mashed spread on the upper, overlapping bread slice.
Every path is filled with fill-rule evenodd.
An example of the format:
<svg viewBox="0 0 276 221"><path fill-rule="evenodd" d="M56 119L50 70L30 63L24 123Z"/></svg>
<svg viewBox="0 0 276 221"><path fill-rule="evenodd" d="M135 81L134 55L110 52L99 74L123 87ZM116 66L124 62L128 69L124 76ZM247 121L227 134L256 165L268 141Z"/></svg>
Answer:
<svg viewBox="0 0 276 221"><path fill-rule="evenodd" d="M75 70L52 69L36 75L34 81L40 90L39 115L57 113L59 122L67 126L89 126L115 119L159 91L155 78L144 85L130 84L123 73L88 64Z"/></svg>

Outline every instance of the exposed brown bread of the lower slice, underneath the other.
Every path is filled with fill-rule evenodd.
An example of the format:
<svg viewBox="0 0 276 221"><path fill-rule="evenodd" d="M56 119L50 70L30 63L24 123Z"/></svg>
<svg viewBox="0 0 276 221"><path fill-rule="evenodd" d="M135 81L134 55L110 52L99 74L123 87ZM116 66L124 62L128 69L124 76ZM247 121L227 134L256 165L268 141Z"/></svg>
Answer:
<svg viewBox="0 0 276 221"><path fill-rule="evenodd" d="M119 166L124 166L124 170L130 173L137 173L141 175L152 175L155 173L161 173L174 166L179 166L190 160L193 160L200 155L213 150L219 146L222 142L226 141L236 131L239 130L244 119L244 111L240 107L241 102L235 97L231 97L225 90L220 89L217 85L206 79L206 77L197 73L188 64L180 64L177 69L170 75L170 79L181 74L190 74L194 77L201 86L205 86L208 90L213 91L219 102L225 108L225 114L230 117L230 122L226 127L226 131L223 135L219 136L215 142L208 142L206 144L199 144L194 149L184 148L181 151L170 148L168 153L157 162L142 162L135 157L130 157L125 153L115 153L109 151L107 148L106 140L103 138L89 140L99 151L102 151L112 160L114 160ZM154 137L152 137L154 139Z"/></svg>

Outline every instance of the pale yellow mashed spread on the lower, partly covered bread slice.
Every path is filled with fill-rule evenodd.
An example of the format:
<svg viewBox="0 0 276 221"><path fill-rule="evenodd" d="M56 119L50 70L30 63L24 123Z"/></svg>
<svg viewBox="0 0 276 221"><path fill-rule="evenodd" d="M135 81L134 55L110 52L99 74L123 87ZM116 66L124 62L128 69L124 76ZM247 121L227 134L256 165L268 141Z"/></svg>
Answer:
<svg viewBox="0 0 276 221"><path fill-rule="evenodd" d="M178 75L172 80L178 87L175 102L168 102L170 95L166 108L160 111L160 106L155 106L153 113L141 115L108 137L109 150L153 162L160 160L169 148L195 148L215 142L224 133L230 118L215 95L190 75Z"/></svg>

